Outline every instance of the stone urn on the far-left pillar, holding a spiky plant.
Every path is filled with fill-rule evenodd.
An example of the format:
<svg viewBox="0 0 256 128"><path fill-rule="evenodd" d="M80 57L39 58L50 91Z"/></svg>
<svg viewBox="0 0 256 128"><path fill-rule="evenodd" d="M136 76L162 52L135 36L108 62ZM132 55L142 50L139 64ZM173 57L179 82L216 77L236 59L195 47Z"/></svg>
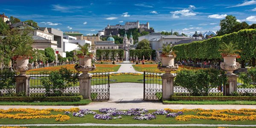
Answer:
<svg viewBox="0 0 256 128"><path fill-rule="evenodd" d="M32 69L32 64L29 64L28 57L17 57L14 69L20 72L19 76L26 76L26 71Z"/></svg>

